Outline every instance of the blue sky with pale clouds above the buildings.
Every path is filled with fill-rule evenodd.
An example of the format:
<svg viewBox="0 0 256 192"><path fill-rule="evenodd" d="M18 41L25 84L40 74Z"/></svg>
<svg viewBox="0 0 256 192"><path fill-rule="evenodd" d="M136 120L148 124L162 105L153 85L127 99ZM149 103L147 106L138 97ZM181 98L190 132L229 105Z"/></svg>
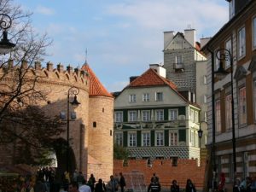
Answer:
<svg viewBox="0 0 256 192"><path fill-rule="evenodd" d="M14 2L33 13L36 32L53 40L43 66L51 61L55 67L82 67L86 59L109 92L123 90L129 78L144 73L149 64L163 64L163 32L194 28L200 41L229 20L224 0Z"/></svg>

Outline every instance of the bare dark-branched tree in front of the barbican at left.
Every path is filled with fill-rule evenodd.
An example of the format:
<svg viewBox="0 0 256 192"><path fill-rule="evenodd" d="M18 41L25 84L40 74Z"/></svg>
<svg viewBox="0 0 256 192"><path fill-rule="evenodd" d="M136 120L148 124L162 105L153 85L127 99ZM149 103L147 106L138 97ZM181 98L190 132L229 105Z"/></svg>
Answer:
<svg viewBox="0 0 256 192"><path fill-rule="evenodd" d="M11 53L0 55L0 144L18 141L29 148L50 148L52 137L63 131L61 122L39 107L47 102L47 93L37 88L42 77L28 73L35 61L43 61L51 40L35 33L32 13L12 0L0 0L0 14L11 18L9 40L15 44Z"/></svg>

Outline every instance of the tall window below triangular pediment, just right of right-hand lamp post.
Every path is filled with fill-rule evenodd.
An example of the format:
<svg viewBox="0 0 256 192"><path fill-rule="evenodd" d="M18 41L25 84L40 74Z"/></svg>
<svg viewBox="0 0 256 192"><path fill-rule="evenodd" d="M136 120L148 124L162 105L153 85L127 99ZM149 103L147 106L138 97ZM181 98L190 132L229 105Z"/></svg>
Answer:
<svg viewBox="0 0 256 192"><path fill-rule="evenodd" d="M245 125L247 123L247 98L246 87L239 89L239 125Z"/></svg>

